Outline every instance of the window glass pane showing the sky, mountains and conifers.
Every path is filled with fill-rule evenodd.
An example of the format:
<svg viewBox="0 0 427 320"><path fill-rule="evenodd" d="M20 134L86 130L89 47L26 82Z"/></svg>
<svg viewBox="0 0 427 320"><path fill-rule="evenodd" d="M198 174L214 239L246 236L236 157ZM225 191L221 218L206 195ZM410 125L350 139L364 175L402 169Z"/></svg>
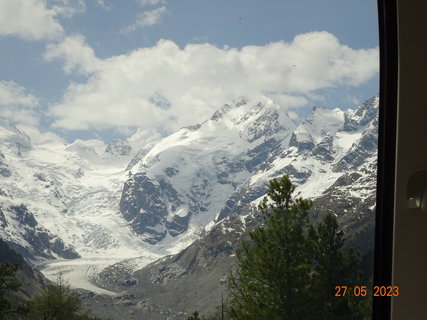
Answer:
<svg viewBox="0 0 427 320"><path fill-rule="evenodd" d="M370 317L375 1L0 11L0 237L44 276L103 317Z"/></svg>

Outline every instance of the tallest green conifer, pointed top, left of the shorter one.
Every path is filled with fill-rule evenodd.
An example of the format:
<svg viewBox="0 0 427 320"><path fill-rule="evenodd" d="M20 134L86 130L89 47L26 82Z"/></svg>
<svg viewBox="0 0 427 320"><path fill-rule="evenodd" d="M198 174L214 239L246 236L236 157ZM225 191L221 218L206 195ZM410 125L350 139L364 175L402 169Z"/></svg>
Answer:
<svg viewBox="0 0 427 320"><path fill-rule="evenodd" d="M237 253L229 278L233 319L308 319L310 255L307 248L311 201L293 199L289 178L270 181L259 205L265 225L250 234Z"/></svg>

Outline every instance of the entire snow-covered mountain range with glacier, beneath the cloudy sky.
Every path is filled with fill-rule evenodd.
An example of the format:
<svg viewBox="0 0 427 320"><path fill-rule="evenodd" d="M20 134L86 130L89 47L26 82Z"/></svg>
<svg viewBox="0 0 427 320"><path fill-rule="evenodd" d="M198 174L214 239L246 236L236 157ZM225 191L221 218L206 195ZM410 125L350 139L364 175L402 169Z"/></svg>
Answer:
<svg viewBox="0 0 427 320"><path fill-rule="evenodd" d="M140 149L123 140L33 143L3 121L0 237L39 263L57 258L42 271L54 279L61 269L75 287L139 292L141 274L163 292L210 270L214 295L268 181L288 174L296 195L314 200L312 217L335 213L363 250L373 237L377 113L374 97L296 122L267 98L236 99Z"/></svg>

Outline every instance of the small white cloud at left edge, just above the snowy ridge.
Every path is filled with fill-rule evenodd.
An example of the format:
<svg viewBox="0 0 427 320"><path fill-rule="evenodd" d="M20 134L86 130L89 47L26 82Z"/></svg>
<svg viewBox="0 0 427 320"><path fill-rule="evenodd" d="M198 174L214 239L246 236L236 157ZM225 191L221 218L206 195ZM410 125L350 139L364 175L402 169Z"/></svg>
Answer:
<svg viewBox="0 0 427 320"><path fill-rule="evenodd" d="M37 98L27 93L24 87L13 81L0 81L0 115L12 121L36 124L38 117L34 108Z"/></svg>

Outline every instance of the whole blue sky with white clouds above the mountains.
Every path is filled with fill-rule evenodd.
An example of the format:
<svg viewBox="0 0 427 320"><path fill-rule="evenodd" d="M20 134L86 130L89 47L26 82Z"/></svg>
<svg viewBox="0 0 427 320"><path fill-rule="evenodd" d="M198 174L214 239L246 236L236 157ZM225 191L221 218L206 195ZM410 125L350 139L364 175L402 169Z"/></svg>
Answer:
<svg viewBox="0 0 427 320"><path fill-rule="evenodd" d="M141 139L267 95L304 115L378 93L375 0L0 0L0 116Z"/></svg>

